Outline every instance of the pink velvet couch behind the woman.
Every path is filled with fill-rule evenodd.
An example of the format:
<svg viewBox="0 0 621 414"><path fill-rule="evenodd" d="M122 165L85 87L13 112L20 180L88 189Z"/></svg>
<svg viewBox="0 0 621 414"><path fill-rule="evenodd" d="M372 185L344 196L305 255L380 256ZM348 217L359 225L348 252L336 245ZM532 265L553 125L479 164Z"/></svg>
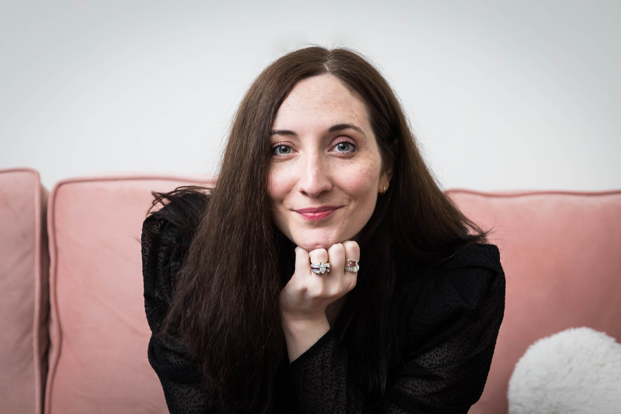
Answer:
<svg viewBox="0 0 621 414"><path fill-rule="evenodd" d="M140 230L150 191L200 177L71 178L48 193L0 170L0 411L166 413L147 361ZM515 363L539 338L588 326L621 339L621 190L448 190L501 251L505 318L471 413L506 413Z"/></svg>

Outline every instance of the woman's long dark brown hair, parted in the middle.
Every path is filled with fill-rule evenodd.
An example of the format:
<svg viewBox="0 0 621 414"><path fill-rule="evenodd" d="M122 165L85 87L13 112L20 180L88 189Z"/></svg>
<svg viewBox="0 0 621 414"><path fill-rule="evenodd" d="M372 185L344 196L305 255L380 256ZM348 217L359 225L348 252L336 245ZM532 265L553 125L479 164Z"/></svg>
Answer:
<svg viewBox="0 0 621 414"><path fill-rule="evenodd" d="M373 65L347 48L307 47L278 58L240 103L211 195L184 188L155 193L153 202L181 203L182 195L194 195L182 206L190 213L171 217L191 242L161 334L188 344L204 385L227 412L268 412L274 373L286 363L278 297L293 273L294 246L270 211L270 130L294 85L323 74L337 77L365 103L383 168L393 171L361 232L364 267L341 311L352 316L343 337L350 374L368 392L369 405L383 397L389 361L399 349L396 275L416 277L417 269L459 247L486 241L487 232L438 188L399 100Z"/></svg>

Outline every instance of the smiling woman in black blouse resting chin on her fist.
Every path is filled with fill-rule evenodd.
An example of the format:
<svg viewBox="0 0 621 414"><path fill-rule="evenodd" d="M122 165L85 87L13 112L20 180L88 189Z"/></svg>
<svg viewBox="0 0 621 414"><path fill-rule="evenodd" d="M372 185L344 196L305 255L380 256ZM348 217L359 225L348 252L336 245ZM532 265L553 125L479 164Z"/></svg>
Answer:
<svg viewBox="0 0 621 414"><path fill-rule="evenodd" d="M309 47L263 70L204 190L155 193L143 224L148 357L171 413L478 400L504 312L498 249L438 189L363 57Z"/></svg>

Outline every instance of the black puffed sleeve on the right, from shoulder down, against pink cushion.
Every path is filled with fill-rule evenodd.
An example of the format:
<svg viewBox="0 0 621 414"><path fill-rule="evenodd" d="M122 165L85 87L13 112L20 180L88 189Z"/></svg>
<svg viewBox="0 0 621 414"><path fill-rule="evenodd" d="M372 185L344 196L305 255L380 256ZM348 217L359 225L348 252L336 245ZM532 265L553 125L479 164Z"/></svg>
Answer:
<svg viewBox="0 0 621 414"><path fill-rule="evenodd" d="M483 393L504 316L497 247L466 247L417 295L383 412L467 413Z"/></svg>

